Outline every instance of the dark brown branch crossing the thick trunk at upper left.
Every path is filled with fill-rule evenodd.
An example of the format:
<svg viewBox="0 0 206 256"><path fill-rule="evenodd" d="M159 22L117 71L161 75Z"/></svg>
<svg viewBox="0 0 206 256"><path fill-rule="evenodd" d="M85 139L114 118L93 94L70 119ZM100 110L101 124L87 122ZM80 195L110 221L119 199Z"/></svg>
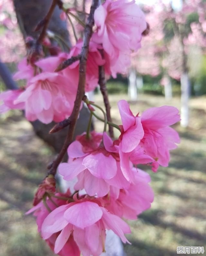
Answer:
<svg viewBox="0 0 206 256"><path fill-rule="evenodd" d="M57 5L58 3L59 3L58 0L53 0L53 1L52 1L52 5L50 6L47 15L46 15L46 16L43 18L43 20L40 22L40 23L42 24L43 28L42 28L42 31L41 31L41 33L40 33L40 35L39 35L39 37L38 37L38 39L37 39L37 41L36 41L37 44L41 44L42 41L43 41L43 39L44 39L44 37L46 36L46 30L47 30L47 28L48 28L49 21L50 21L50 19L51 19L51 17L52 17L52 14L53 14L53 12L54 12L55 7L56 7L56 5ZM39 26L41 25L40 23L38 24ZM38 27L38 25L37 25L37 27Z"/></svg>

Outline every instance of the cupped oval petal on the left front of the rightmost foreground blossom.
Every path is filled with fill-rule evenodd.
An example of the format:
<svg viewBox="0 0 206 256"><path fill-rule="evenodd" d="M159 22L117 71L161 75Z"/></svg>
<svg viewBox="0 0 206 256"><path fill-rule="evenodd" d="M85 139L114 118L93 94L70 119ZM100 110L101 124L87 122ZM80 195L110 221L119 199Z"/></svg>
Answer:
<svg viewBox="0 0 206 256"><path fill-rule="evenodd" d="M135 125L127 129L122 137L121 148L122 151L125 153L131 152L133 149L135 149L138 146L140 140L144 136L144 130L142 128L141 119L139 117L135 119Z"/></svg>

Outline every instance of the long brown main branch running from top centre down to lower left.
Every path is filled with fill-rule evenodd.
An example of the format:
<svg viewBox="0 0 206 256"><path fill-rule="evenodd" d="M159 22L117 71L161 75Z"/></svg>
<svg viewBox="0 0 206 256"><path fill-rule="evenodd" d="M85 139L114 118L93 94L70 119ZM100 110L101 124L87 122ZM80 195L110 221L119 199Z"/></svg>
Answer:
<svg viewBox="0 0 206 256"><path fill-rule="evenodd" d="M82 102L82 98L84 96L84 90L85 90L85 82L86 82L86 67L87 67L87 57L89 52L89 41L91 39L92 35L92 27L94 25L94 11L98 7L98 0L93 0L92 5L90 8L89 17L87 20L87 24L84 30L84 41L83 46L80 53L80 67L79 67L79 84L77 89L77 96L74 102L74 108L72 110L71 116L70 116L70 127L68 129L68 134L66 137L66 140L64 142L64 145L57 156L57 158L53 161L52 167L48 172L49 174L56 174L57 167L61 163L61 160L64 157L64 154L67 151L67 148L71 144L74 136L74 129L76 126L77 118L79 116L80 112L80 106Z"/></svg>

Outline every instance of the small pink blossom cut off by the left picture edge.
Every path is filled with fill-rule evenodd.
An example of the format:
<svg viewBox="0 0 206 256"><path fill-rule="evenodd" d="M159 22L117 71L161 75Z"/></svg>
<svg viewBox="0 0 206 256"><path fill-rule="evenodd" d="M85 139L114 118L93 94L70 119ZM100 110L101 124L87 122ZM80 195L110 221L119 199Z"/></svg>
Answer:
<svg viewBox="0 0 206 256"><path fill-rule="evenodd" d="M0 113L4 113L10 109L24 109L24 103L14 104L16 98L18 98L23 91L23 89L17 89L0 93L0 103L3 102L3 104L0 105Z"/></svg>

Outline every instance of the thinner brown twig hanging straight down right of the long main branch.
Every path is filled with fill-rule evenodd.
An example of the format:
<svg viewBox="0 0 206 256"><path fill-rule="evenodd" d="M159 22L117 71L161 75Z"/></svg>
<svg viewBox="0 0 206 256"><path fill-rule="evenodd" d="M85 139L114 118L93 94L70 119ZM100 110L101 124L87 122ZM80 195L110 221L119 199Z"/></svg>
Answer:
<svg viewBox="0 0 206 256"><path fill-rule="evenodd" d="M103 51L99 50L102 57L103 57ZM105 70L104 70L104 66L99 66L99 87L100 87L100 91L102 93L103 99L104 99L104 105L105 105L105 109L106 109L106 114L107 114L107 120L109 122L112 122L112 118L111 118L111 114L110 114L110 104L109 104L109 98L108 98L108 90L106 87L106 79L105 79ZM114 138L114 131L113 131L113 127L111 125L109 125L109 135L111 138Z"/></svg>

